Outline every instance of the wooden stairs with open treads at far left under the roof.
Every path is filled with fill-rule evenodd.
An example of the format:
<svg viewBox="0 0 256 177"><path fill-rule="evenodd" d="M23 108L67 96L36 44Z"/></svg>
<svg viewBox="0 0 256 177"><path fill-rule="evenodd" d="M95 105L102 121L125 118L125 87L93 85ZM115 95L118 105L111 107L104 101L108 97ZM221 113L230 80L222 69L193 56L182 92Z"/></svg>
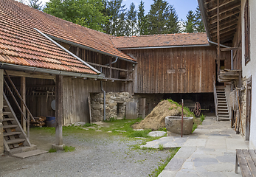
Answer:
<svg viewBox="0 0 256 177"><path fill-rule="evenodd" d="M3 114L4 150L11 153L12 150L17 151L18 148L31 147L30 140L21 128L21 124L18 122L5 94Z"/></svg>

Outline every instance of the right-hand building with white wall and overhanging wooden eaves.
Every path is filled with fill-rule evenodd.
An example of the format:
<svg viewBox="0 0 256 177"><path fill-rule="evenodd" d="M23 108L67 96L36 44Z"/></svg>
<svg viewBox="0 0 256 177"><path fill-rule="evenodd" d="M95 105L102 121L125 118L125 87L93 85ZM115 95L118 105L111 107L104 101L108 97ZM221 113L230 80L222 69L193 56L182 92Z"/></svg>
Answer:
<svg viewBox="0 0 256 177"><path fill-rule="evenodd" d="M226 94L230 91L238 96L237 104L230 108L232 126L241 133L249 148L256 148L256 104L255 86L255 13L256 1L198 0L207 37L218 44L218 81L225 83ZM230 52L231 69L221 69L220 57ZM232 99L230 97L230 99ZM230 102L232 103L232 102ZM240 108L238 108L238 104ZM234 105L233 103L231 105ZM218 102L215 105L219 107ZM218 109L217 109L218 110ZM219 113L216 112L217 117ZM235 122L237 117L237 122Z"/></svg>

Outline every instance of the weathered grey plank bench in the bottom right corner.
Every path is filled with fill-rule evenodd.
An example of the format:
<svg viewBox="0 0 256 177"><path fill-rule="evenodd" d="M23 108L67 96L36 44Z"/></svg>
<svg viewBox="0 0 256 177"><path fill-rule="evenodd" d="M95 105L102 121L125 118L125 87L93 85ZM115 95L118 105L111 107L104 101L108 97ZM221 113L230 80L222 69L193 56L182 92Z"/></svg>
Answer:
<svg viewBox="0 0 256 177"><path fill-rule="evenodd" d="M237 149L235 159L235 173L241 169L242 176L256 177L256 150Z"/></svg>

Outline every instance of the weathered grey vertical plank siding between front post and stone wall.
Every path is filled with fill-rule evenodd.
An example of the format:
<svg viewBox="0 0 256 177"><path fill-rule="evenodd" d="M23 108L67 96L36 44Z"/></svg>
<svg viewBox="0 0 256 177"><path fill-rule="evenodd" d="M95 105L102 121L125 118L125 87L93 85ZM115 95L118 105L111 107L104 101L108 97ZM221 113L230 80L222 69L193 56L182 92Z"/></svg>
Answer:
<svg viewBox="0 0 256 177"><path fill-rule="evenodd" d="M105 92L125 91L125 83L103 82ZM90 93L102 92L100 81L63 79L63 124L74 122L89 122L88 96Z"/></svg>

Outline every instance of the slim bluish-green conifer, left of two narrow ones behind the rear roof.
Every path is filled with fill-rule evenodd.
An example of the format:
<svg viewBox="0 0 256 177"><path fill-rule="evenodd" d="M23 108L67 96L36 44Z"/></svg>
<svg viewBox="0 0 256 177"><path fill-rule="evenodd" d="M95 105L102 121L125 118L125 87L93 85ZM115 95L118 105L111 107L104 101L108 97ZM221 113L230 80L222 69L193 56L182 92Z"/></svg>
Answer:
<svg viewBox="0 0 256 177"><path fill-rule="evenodd" d="M136 35L137 18L136 18L135 5L133 2L131 3L130 10L128 10L126 21L127 21L127 23L126 23L126 34L125 35L128 35L128 36Z"/></svg>

